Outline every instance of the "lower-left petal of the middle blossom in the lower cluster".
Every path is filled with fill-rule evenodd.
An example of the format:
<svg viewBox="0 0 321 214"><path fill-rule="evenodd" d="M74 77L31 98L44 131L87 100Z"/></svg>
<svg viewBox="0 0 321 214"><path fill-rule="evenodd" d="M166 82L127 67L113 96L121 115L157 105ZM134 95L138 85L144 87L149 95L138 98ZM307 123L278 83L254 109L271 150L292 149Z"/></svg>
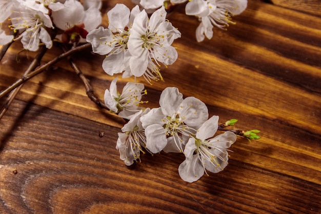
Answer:
<svg viewBox="0 0 321 214"><path fill-rule="evenodd" d="M160 152L167 144L166 133L162 126L153 124L145 129L146 147L153 153Z"/></svg>

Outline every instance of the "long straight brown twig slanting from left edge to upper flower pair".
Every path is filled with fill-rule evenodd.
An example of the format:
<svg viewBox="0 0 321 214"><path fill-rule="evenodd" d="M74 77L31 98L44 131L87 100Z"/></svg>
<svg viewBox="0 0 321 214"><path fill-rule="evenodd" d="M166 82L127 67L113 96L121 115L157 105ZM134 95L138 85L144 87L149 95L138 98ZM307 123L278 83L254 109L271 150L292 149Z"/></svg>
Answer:
<svg viewBox="0 0 321 214"><path fill-rule="evenodd" d="M47 68L49 68L50 66L54 65L55 63L61 61L62 59L66 58L67 56L70 56L73 53L79 52L83 49L89 48L91 47L90 43L86 43L84 45L78 46L74 49L71 49L65 53L62 53L61 55L55 57L55 59L49 61L48 63L42 65L41 67L39 67L38 69L32 71L31 73L27 74L27 75L23 75L22 77L20 77L17 81L15 81L11 86L9 86L8 88L6 88L5 90L0 92L0 99L3 98L3 96L5 96L6 94L8 94L9 92L11 92L13 89L15 89L16 87L18 87L19 85L27 82L28 80L30 80L32 77L34 77L35 75L43 72L44 70L46 70Z"/></svg>

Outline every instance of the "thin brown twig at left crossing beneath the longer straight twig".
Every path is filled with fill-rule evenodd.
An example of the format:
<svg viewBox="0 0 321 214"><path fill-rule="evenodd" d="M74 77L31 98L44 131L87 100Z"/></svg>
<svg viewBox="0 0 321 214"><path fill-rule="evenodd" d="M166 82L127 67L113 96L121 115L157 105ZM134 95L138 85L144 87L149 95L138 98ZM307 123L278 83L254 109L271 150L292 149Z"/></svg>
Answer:
<svg viewBox="0 0 321 214"><path fill-rule="evenodd" d="M31 71L33 71L40 63L41 59L43 58L43 56L45 55L47 51L46 46L42 46L39 50L39 53L36 55L36 57L33 59L33 61L31 62L31 64L29 65L29 67L27 68L27 70L25 71L24 75L27 75L28 73L30 73ZM0 120L2 119L3 115L6 113L6 111L8 110L10 104L12 103L12 101L14 100L15 96L17 95L17 93L20 91L20 89L23 87L24 84L19 85L18 87L16 87L14 90L11 91L11 93L9 94L8 98L6 99L4 105L1 107L0 109Z"/></svg>

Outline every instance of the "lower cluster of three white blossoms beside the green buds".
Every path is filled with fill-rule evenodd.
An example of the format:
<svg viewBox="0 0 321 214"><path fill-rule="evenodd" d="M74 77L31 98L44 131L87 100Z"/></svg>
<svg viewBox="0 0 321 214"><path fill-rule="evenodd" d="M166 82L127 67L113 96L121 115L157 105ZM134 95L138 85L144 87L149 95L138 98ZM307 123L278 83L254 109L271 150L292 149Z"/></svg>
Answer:
<svg viewBox="0 0 321 214"><path fill-rule="evenodd" d="M124 91L130 94L125 88L122 95ZM131 97L128 95L127 100ZM140 161L144 149L149 153L184 153L186 160L178 172L187 182L197 181L204 172L207 174L206 170L219 172L227 166L228 148L236 141L236 135L226 131L212 138L218 129L218 116L208 119L208 109L202 101L192 96L183 99L177 88L168 87L160 95L159 105L133 114L122 128L123 133L118 133L116 148L126 165Z"/></svg>

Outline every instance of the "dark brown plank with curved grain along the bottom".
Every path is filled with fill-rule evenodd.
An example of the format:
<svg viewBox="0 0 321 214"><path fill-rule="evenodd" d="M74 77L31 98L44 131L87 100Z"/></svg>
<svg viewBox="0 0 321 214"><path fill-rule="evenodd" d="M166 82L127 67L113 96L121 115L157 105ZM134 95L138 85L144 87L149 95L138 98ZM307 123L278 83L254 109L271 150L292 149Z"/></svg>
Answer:
<svg viewBox="0 0 321 214"><path fill-rule="evenodd" d="M183 154L143 155L142 163L125 167L114 149L119 129L24 102L12 108L2 122L19 128L0 135L5 202L0 206L8 213L313 213L321 208L318 183L245 163L255 155L246 151L246 141L233 146L227 170L186 184L177 173Z"/></svg>

